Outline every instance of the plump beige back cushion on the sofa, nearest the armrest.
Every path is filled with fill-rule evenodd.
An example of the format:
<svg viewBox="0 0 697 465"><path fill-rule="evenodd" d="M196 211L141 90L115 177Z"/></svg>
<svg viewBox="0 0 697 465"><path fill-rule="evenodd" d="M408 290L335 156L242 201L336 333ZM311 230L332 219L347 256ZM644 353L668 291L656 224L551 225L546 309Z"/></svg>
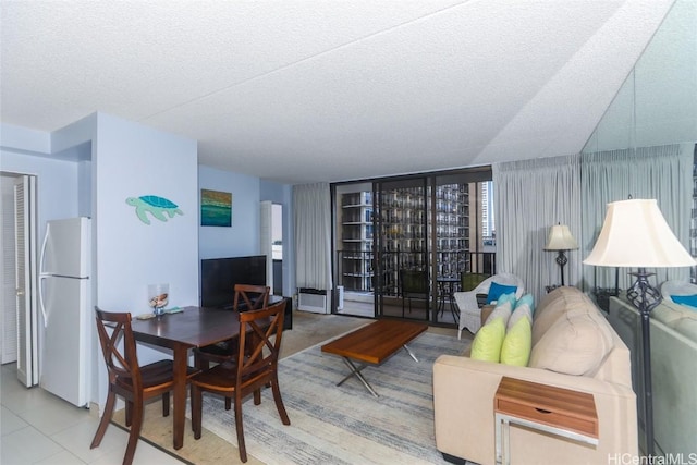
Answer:
<svg viewBox="0 0 697 465"><path fill-rule="evenodd" d="M591 304L592 305L592 304ZM565 313L533 345L529 366L592 375L612 350L610 325L595 306Z"/></svg>

